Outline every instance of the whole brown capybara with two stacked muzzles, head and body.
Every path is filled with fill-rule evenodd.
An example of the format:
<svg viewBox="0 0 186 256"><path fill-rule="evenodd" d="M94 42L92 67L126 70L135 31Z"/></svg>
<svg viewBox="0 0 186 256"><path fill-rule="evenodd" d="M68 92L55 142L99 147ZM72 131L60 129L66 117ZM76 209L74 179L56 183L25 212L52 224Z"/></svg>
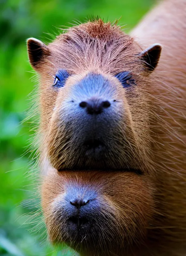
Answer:
<svg viewBox="0 0 186 256"><path fill-rule="evenodd" d="M186 2L167 0L131 36L96 20L49 45L28 40L53 243L82 256L185 255L185 24Z"/></svg>

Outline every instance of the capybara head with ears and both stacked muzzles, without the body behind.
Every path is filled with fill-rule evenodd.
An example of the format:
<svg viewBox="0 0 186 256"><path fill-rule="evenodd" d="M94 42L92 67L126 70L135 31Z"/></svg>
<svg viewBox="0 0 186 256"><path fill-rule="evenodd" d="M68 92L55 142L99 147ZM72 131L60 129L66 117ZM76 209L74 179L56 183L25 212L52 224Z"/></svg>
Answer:
<svg viewBox="0 0 186 256"><path fill-rule="evenodd" d="M50 240L90 256L135 250L154 211L148 77L161 45L142 50L119 27L98 20L49 45L28 39L28 53L40 74Z"/></svg>

